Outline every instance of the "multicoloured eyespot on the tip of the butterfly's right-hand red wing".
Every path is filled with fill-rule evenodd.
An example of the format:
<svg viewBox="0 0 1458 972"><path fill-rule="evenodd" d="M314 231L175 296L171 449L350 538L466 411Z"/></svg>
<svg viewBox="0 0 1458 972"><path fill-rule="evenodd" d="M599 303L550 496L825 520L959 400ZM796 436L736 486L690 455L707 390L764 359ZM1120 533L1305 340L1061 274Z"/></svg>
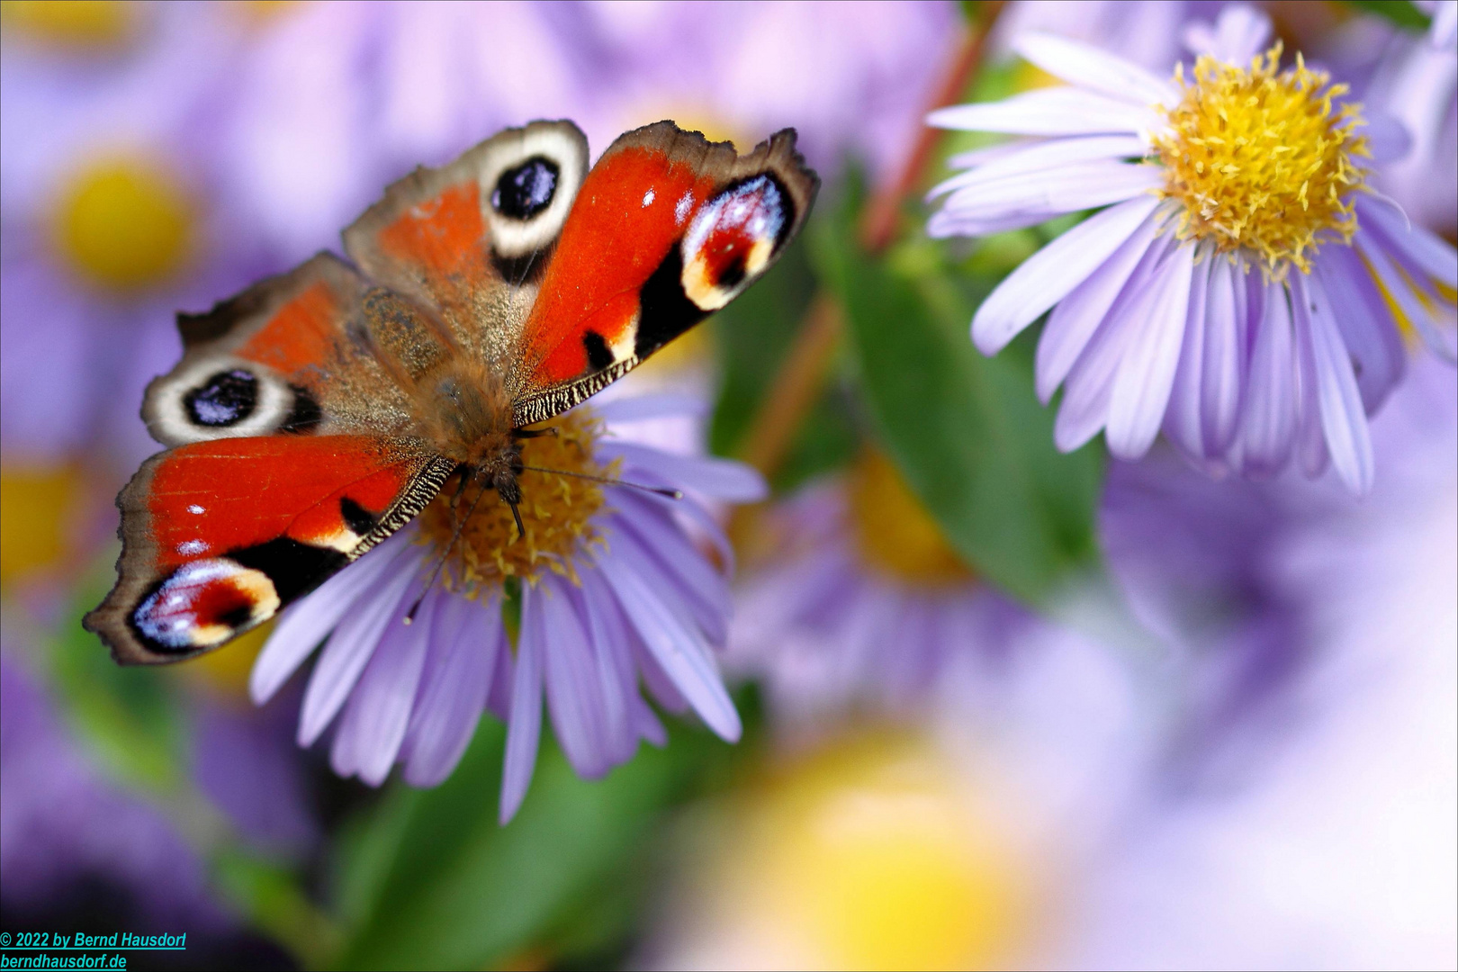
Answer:
<svg viewBox="0 0 1458 972"><path fill-rule="evenodd" d="M795 223L789 194L770 173L736 182L698 210L684 233L684 293L717 310L770 265Z"/></svg>

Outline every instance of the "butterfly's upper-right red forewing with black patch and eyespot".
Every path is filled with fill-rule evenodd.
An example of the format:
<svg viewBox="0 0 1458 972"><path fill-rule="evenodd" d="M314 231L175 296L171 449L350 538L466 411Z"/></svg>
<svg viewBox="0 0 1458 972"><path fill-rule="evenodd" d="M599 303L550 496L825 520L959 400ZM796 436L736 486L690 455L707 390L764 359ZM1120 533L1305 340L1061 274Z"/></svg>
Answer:
<svg viewBox="0 0 1458 972"><path fill-rule="evenodd" d="M744 157L669 121L621 136L583 181L519 338L518 424L572 408L729 303L816 188L793 130Z"/></svg>

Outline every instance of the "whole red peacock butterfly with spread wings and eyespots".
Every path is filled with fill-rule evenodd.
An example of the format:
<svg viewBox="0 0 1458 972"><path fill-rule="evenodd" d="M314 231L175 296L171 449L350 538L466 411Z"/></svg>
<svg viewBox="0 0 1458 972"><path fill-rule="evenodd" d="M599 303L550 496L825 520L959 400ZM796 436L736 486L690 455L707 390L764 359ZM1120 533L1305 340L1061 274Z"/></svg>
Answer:
<svg viewBox="0 0 1458 972"><path fill-rule="evenodd" d="M322 252L201 315L141 417L168 446L117 497L117 584L86 628L176 662L267 621L456 471L521 498L519 440L729 303L818 179L784 130L739 156L671 121L588 168L569 121L417 169Z"/></svg>

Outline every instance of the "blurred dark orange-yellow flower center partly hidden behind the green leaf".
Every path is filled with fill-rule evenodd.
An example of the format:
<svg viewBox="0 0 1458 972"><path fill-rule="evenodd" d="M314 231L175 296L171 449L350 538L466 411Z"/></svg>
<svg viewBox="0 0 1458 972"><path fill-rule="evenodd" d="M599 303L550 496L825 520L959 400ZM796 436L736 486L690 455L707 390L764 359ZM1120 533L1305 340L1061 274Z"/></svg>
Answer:
<svg viewBox="0 0 1458 972"><path fill-rule="evenodd" d="M972 571L942 528L882 453L860 455L850 478L850 516L862 560L882 574L917 584L961 584Z"/></svg>

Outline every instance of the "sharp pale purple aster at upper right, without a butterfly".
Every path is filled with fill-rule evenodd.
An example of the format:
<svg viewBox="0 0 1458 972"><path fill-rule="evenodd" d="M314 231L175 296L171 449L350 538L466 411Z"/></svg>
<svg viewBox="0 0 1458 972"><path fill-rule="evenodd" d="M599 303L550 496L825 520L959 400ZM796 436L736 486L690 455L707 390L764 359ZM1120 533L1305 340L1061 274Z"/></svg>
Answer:
<svg viewBox="0 0 1458 972"><path fill-rule="evenodd" d="M1098 50L1025 35L1069 82L933 112L948 128L1028 136L959 156L933 236L978 236L1101 210L1035 254L977 310L987 354L1053 313L1038 393L1064 386L1054 439L1105 430L1143 456L1161 430L1219 475L1306 475L1330 460L1372 487L1368 412L1406 367L1404 331L1452 360L1458 255L1366 188L1385 125L1363 134L1341 85L1231 7L1174 82ZM1242 67L1244 66L1244 67ZM1107 208L1101 208L1107 207Z"/></svg>

